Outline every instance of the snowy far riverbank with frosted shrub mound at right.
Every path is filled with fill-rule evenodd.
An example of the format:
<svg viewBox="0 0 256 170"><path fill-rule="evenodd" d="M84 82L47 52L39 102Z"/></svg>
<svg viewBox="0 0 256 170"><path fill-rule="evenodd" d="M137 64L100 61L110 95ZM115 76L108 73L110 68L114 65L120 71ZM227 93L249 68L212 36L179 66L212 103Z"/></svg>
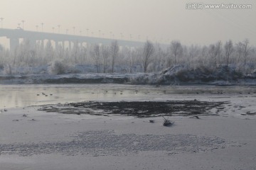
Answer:
<svg viewBox="0 0 256 170"><path fill-rule="evenodd" d="M81 69L81 68L80 68ZM33 69L32 69L33 70ZM196 67L189 69L183 65L174 65L161 72L154 73L105 73L68 72L50 74L49 72L17 72L0 74L0 84L149 84L180 85L204 84L216 86L255 86L256 71L242 74L234 67L220 65L215 69Z"/></svg>

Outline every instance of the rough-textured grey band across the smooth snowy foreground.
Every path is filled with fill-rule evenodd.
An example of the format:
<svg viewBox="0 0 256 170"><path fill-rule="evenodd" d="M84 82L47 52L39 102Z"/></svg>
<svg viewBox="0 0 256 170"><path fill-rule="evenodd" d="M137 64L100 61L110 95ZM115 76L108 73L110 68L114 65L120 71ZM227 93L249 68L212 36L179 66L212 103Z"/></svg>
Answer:
<svg viewBox="0 0 256 170"><path fill-rule="evenodd" d="M196 135L135 135L114 134L112 130L78 132L73 140L60 142L26 142L0 144L0 154L17 154L28 157L35 154L63 154L85 156L107 156L137 154L147 151L164 151L166 154L183 152L211 152L235 146L219 137Z"/></svg>

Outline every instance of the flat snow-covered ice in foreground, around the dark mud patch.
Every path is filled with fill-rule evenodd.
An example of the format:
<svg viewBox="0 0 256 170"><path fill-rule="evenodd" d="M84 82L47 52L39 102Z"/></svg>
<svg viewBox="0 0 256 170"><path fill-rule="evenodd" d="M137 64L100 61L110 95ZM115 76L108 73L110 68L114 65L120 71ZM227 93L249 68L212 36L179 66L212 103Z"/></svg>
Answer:
<svg viewBox="0 0 256 170"><path fill-rule="evenodd" d="M122 95L130 94L115 94L112 101L196 98L229 103L222 111L212 110L218 116L169 117L171 127L164 127L161 117L64 115L38 111L41 106L3 108L0 169L255 169L254 88L142 86L136 97L132 91L139 92L138 86L117 86L100 93L123 88L127 91Z"/></svg>

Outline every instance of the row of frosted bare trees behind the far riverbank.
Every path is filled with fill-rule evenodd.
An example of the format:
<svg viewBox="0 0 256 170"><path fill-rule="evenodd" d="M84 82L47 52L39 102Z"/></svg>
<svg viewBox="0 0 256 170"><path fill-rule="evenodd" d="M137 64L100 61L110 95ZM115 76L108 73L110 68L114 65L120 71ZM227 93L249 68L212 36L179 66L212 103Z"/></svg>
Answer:
<svg viewBox="0 0 256 170"><path fill-rule="evenodd" d="M14 52L9 52L0 45L0 69L5 65L11 67L38 67L60 60L65 64L92 65L90 72L159 72L175 64L184 64L196 68L204 66L215 69L220 64L228 64L245 74L256 68L256 49L249 40L234 43L215 42L208 46L182 45L173 40L170 45L159 45L146 41L143 47L119 47L114 40L111 45L87 45L78 43L72 49L61 45L53 48L50 41L46 45L40 42L31 47L24 40Z"/></svg>

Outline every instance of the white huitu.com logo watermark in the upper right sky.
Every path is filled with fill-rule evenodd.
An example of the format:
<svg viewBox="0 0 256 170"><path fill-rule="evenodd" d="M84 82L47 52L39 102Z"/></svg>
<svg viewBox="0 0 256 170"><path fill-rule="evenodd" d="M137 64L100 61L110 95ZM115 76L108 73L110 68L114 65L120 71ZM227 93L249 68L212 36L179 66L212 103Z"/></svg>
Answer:
<svg viewBox="0 0 256 170"><path fill-rule="evenodd" d="M186 9L250 9L252 4L203 4L188 3Z"/></svg>

